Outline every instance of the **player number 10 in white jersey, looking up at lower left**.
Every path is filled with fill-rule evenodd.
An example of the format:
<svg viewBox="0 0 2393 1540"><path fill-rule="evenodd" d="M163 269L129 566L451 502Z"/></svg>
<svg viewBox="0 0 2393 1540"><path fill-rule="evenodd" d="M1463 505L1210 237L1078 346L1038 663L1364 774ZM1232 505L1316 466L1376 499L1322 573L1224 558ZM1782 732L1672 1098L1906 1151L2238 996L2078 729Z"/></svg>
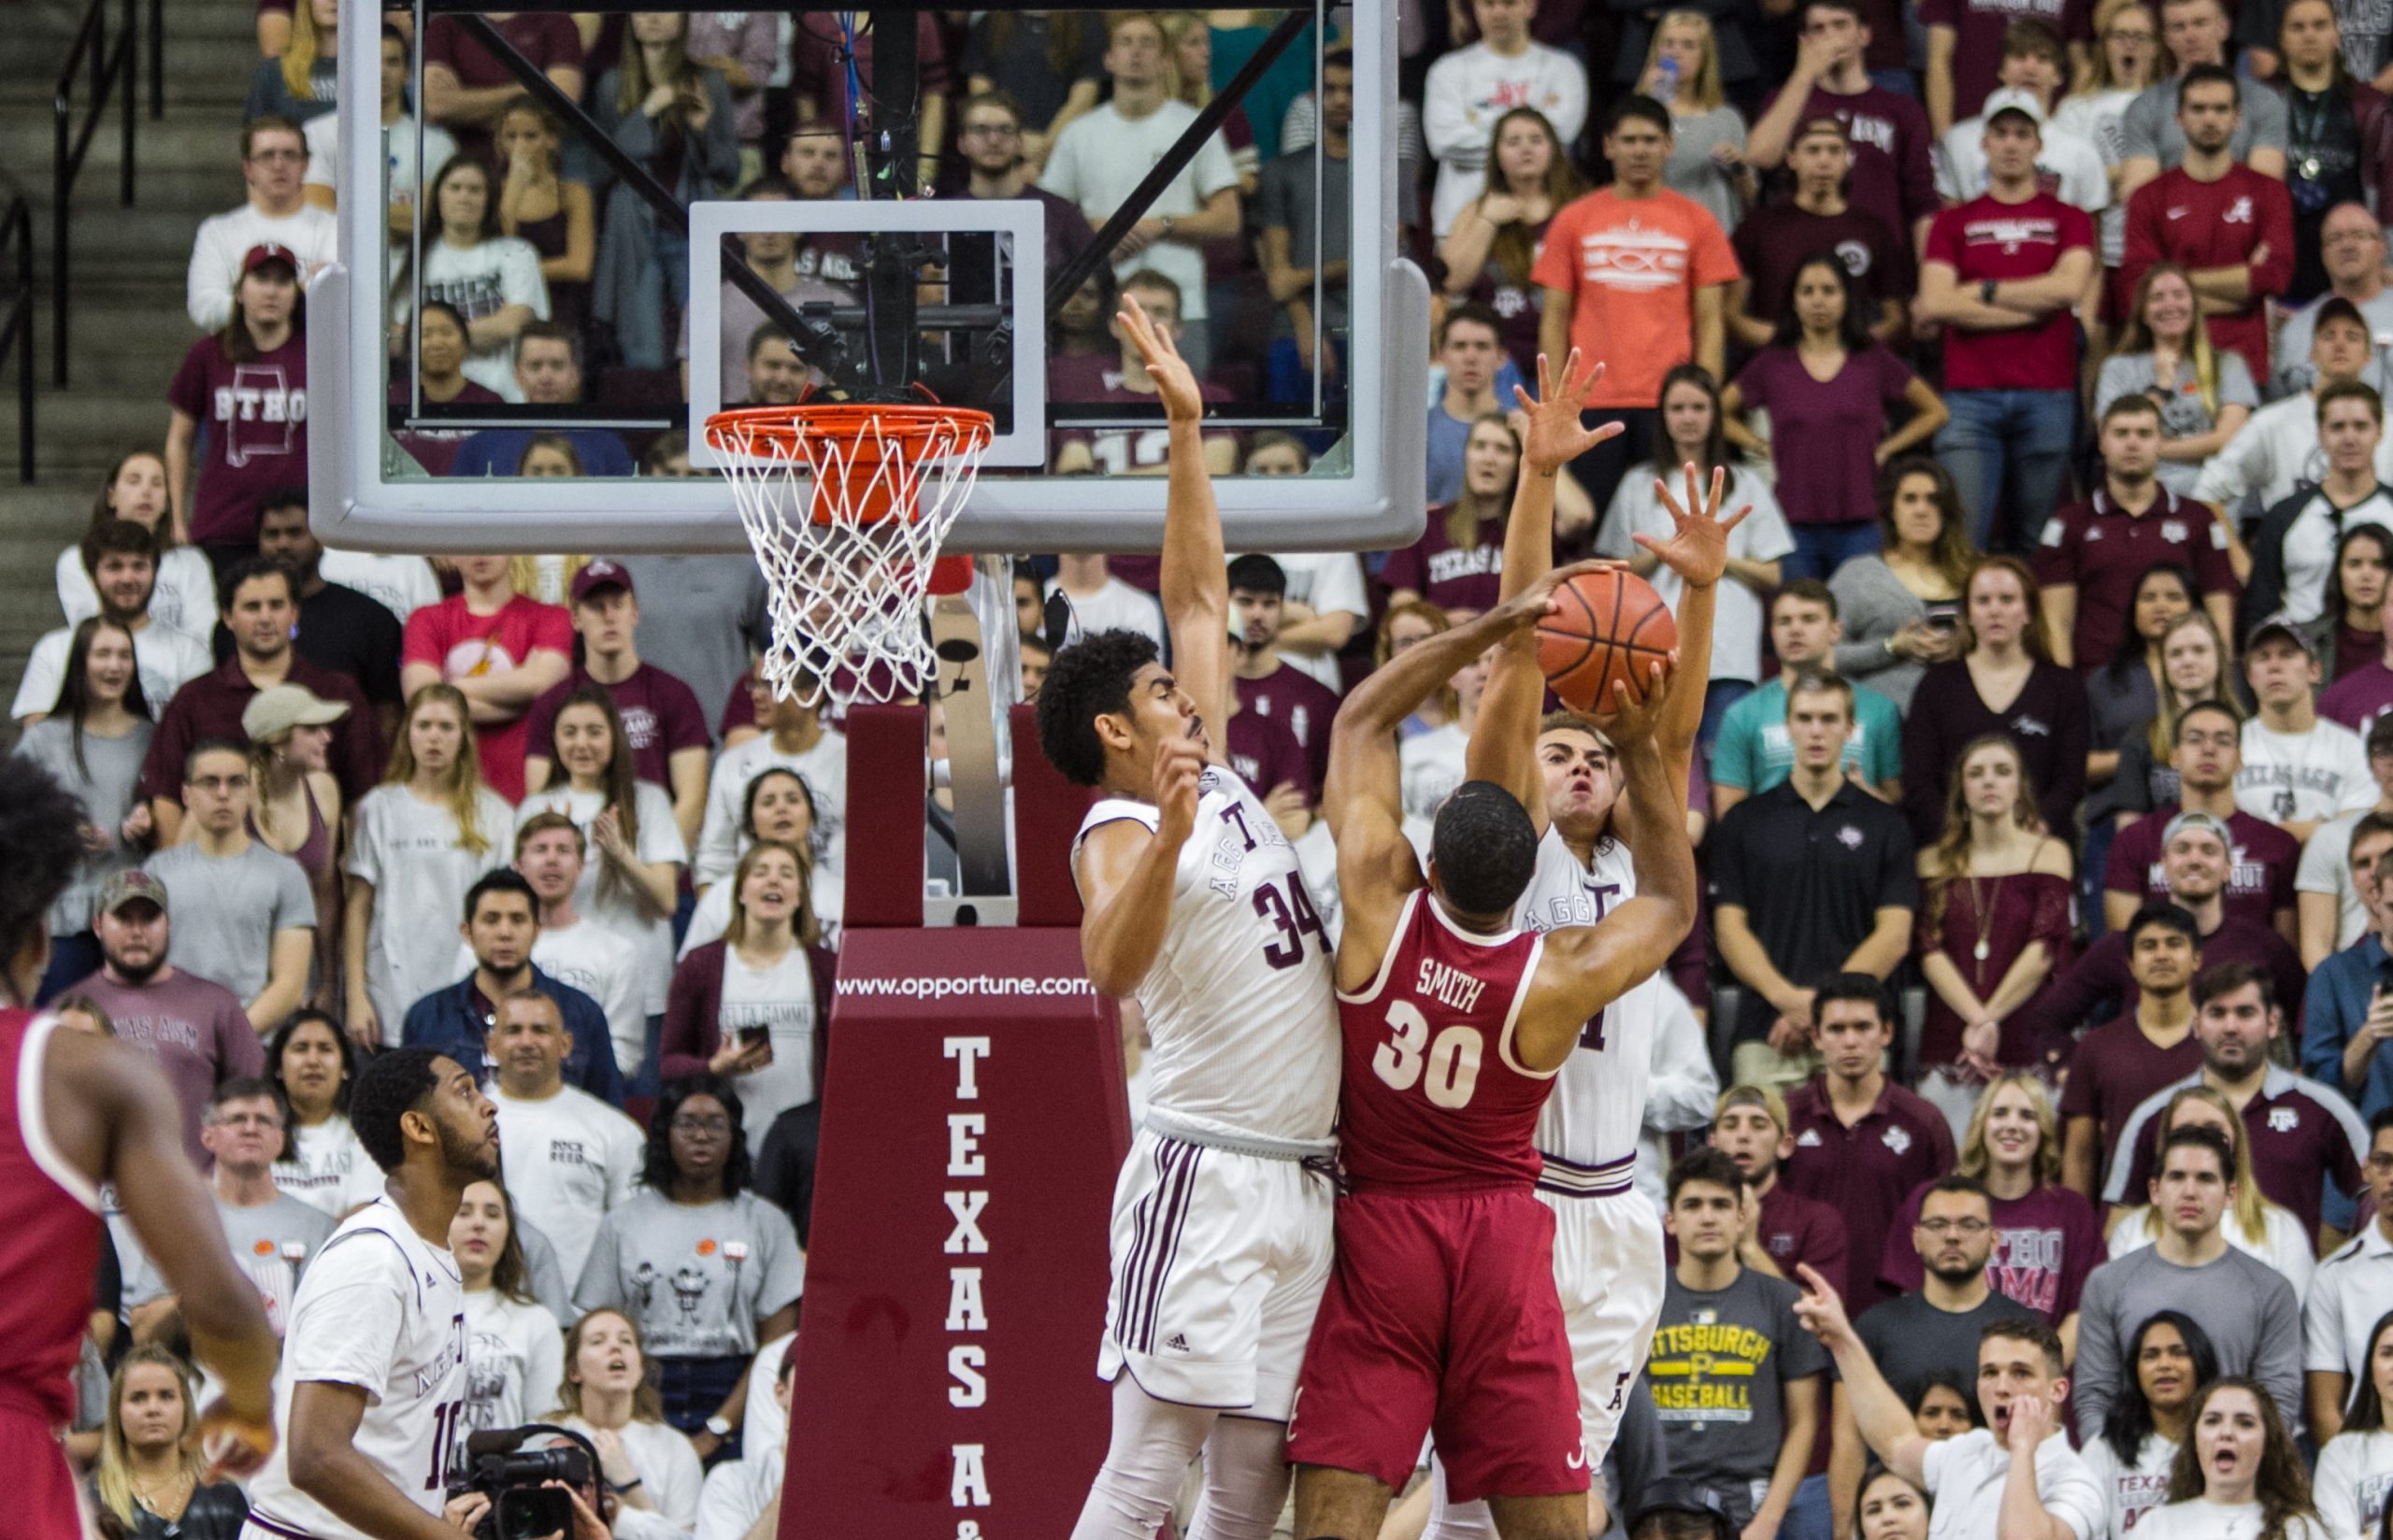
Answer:
<svg viewBox="0 0 2393 1540"><path fill-rule="evenodd" d="M447 1055L373 1057L349 1124L388 1181L323 1243L282 1337L282 1447L242 1540L457 1540L447 1456L464 1411L464 1188L498 1179L498 1110Z"/></svg>

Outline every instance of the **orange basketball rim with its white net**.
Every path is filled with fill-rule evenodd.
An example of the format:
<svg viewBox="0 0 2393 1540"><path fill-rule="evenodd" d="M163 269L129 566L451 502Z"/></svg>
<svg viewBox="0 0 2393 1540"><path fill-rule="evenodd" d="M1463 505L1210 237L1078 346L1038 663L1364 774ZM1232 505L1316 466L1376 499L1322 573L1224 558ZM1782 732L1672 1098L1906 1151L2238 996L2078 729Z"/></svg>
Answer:
<svg viewBox="0 0 2393 1540"><path fill-rule="evenodd" d="M771 598L773 696L919 696L938 677L926 593L960 593L972 557L938 548L981 473L986 411L902 404L742 407L706 418ZM799 689L814 679L811 689Z"/></svg>

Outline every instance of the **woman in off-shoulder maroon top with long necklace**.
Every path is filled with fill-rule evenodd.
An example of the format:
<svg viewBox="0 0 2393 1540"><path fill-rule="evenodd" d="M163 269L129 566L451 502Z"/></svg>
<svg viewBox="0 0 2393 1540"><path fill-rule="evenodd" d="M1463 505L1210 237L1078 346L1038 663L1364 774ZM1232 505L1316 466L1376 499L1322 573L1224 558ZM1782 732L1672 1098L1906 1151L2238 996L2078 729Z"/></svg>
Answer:
<svg viewBox="0 0 2393 1540"><path fill-rule="evenodd" d="M1917 866L1926 902L1914 947L1929 983L1919 1095L1960 1133L1984 1112L1979 1086L2044 1062L2022 1007L2070 957L2070 847L2044 827L2017 741L1962 746L1943 832Z"/></svg>

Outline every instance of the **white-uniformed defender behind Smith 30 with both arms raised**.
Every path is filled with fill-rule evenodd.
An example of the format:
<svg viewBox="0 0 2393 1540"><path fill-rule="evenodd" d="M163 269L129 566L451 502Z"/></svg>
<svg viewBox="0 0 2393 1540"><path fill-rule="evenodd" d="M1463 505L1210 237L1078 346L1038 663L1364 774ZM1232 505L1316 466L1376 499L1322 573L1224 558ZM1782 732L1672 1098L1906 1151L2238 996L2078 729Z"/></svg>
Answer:
<svg viewBox="0 0 2393 1540"><path fill-rule="evenodd" d="M1553 567L1553 476L1589 442L1606 438L1601 428L1579 428L1587 390L1601 366L1582 371L1579 354L1572 352L1558 383L1546 359L1539 359L1536 373L1541 399L1520 395L1529 423L1505 528L1503 598L1527 591ZM1675 801L1663 808L1620 801L1618 760L1589 722L1567 713L1539 722L1546 677L1534 646L1505 648L1479 698L1469 777L1512 787L1539 827L1536 875L1515 911L1515 923L1524 928L1601 923L1637 897L1637 870L1625 842L1630 820L1685 818L1687 765L1711 674L1713 583L1728 567L1728 531L1744 514L1718 519L1718 478L1706 497L1692 469L1685 509L1694 512L1685 512L1668 488L1661 500L1677 531L1668 545L1642 543L1687 583L1677 610L1677 667L1656 729ZM1555 1220L1553 1277L1579 1375L1589 1471L1601 1468L1620 1428L1666 1289L1661 1220L1630 1188L1654 1035L1661 1031L1661 973L1654 973L1587 1023L1536 1122L1536 1148L1546 1157L1536 1191ZM1445 1504L1443 1471L1438 1475L1441 1502L1426 1540L1493 1540L1496 1523L1486 1504ZM1589 1502L1601 1502L1601 1483ZM1601 1528L1599 1511L1591 1511L1589 1526L1589 1533Z"/></svg>

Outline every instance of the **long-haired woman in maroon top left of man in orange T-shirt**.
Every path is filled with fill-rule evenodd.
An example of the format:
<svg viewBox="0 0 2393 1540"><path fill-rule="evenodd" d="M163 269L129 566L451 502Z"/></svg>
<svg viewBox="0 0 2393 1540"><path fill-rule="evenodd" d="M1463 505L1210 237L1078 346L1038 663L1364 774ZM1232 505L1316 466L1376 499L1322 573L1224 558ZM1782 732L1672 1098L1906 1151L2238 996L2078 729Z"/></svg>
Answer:
<svg viewBox="0 0 2393 1540"><path fill-rule="evenodd" d="M1503 352L1536 378L1536 328L1546 292L1529 277L1558 208L1587 191L1563 136L1536 108L1512 108L1488 134L1486 191L1462 206L1438 244L1441 292L1503 318Z"/></svg>

